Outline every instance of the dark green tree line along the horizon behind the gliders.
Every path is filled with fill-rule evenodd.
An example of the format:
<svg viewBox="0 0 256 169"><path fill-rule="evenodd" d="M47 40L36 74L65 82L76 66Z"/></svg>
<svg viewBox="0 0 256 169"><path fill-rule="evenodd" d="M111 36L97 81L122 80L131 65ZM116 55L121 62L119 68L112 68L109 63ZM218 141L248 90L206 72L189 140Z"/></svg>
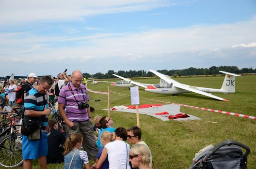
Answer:
<svg viewBox="0 0 256 169"><path fill-rule="evenodd" d="M193 75L214 75L214 74L221 74L219 70L227 71L230 73L236 74L243 74L243 73L256 73L256 69L252 68L242 68L238 69L236 66L212 66L210 68L188 68L183 70L157 70L162 74L166 74L169 76L193 76ZM112 74L117 74L122 77L153 77L155 74L145 70L119 70L115 72L114 70L109 70L107 73L103 74L101 72L95 74L83 73L83 77L85 78L95 78L95 79L110 79L110 78L117 78Z"/></svg>

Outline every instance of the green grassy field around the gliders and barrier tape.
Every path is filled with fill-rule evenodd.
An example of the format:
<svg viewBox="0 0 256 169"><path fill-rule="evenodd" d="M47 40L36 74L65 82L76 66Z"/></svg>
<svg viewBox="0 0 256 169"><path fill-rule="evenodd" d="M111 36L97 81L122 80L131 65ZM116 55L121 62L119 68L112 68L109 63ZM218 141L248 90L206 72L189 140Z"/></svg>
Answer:
<svg viewBox="0 0 256 169"><path fill-rule="evenodd" d="M136 81L148 84L159 83L160 79L138 79ZM184 84L221 88L224 76L216 77L188 77L176 78ZM107 91L108 84L88 85L88 88L97 91ZM111 91L129 94L128 88L110 87ZM107 116L107 95L89 93L90 105L95 108L95 115ZM215 110L247 114L256 116L256 75L247 75L236 78L236 93L215 94L230 100L229 102L211 99L195 93L180 94L178 96L153 94L140 88L140 97L168 101L173 103L210 108ZM101 100L95 102L95 100ZM111 107L130 105L130 97L111 93ZM147 99L140 99L141 104L157 104ZM212 113L198 109L181 107L181 112L189 113L202 118L195 121L166 121L140 115L140 127L143 131L142 139L151 149L153 161L157 169L189 169L194 154L208 144L216 145L219 142L231 139L239 141L251 148L248 157L248 169L256 169L256 120L241 118L233 115ZM111 112L114 127L131 127L136 125L136 114ZM48 165L49 169L61 169L63 165ZM33 169L38 164L34 163Z"/></svg>

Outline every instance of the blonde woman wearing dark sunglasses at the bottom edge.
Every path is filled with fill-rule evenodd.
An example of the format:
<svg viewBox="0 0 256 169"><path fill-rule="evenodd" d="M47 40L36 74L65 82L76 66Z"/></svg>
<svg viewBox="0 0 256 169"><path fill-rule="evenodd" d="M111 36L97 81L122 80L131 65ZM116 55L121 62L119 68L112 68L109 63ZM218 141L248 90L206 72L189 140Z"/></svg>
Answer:
<svg viewBox="0 0 256 169"><path fill-rule="evenodd" d="M129 161L133 168L151 169L150 163L150 150L144 144L134 144L130 149Z"/></svg>

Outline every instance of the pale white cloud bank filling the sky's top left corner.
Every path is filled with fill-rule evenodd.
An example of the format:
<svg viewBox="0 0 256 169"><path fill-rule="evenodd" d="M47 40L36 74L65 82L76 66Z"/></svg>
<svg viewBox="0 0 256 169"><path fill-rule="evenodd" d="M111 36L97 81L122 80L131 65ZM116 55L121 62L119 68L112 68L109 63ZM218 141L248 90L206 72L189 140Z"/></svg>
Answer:
<svg viewBox="0 0 256 169"><path fill-rule="evenodd" d="M4 0L0 2L0 25L44 20L82 21L93 15L145 11L176 3L176 0Z"/></svg>

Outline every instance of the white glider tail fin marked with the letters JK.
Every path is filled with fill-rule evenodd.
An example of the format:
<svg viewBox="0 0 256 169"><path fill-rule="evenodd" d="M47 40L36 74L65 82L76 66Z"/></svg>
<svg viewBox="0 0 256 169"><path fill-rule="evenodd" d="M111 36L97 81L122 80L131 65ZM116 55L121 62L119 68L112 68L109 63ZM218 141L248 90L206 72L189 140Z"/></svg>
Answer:
<svg viewBox="0 0 256 169"><path fill-rule="evenodd" d="M221 90L223 93L235 93L236 91L236 76L240 76L234 73L229 73L225 71L220 71L222 73L225 73L225 78L222 84Z"/></svg>

